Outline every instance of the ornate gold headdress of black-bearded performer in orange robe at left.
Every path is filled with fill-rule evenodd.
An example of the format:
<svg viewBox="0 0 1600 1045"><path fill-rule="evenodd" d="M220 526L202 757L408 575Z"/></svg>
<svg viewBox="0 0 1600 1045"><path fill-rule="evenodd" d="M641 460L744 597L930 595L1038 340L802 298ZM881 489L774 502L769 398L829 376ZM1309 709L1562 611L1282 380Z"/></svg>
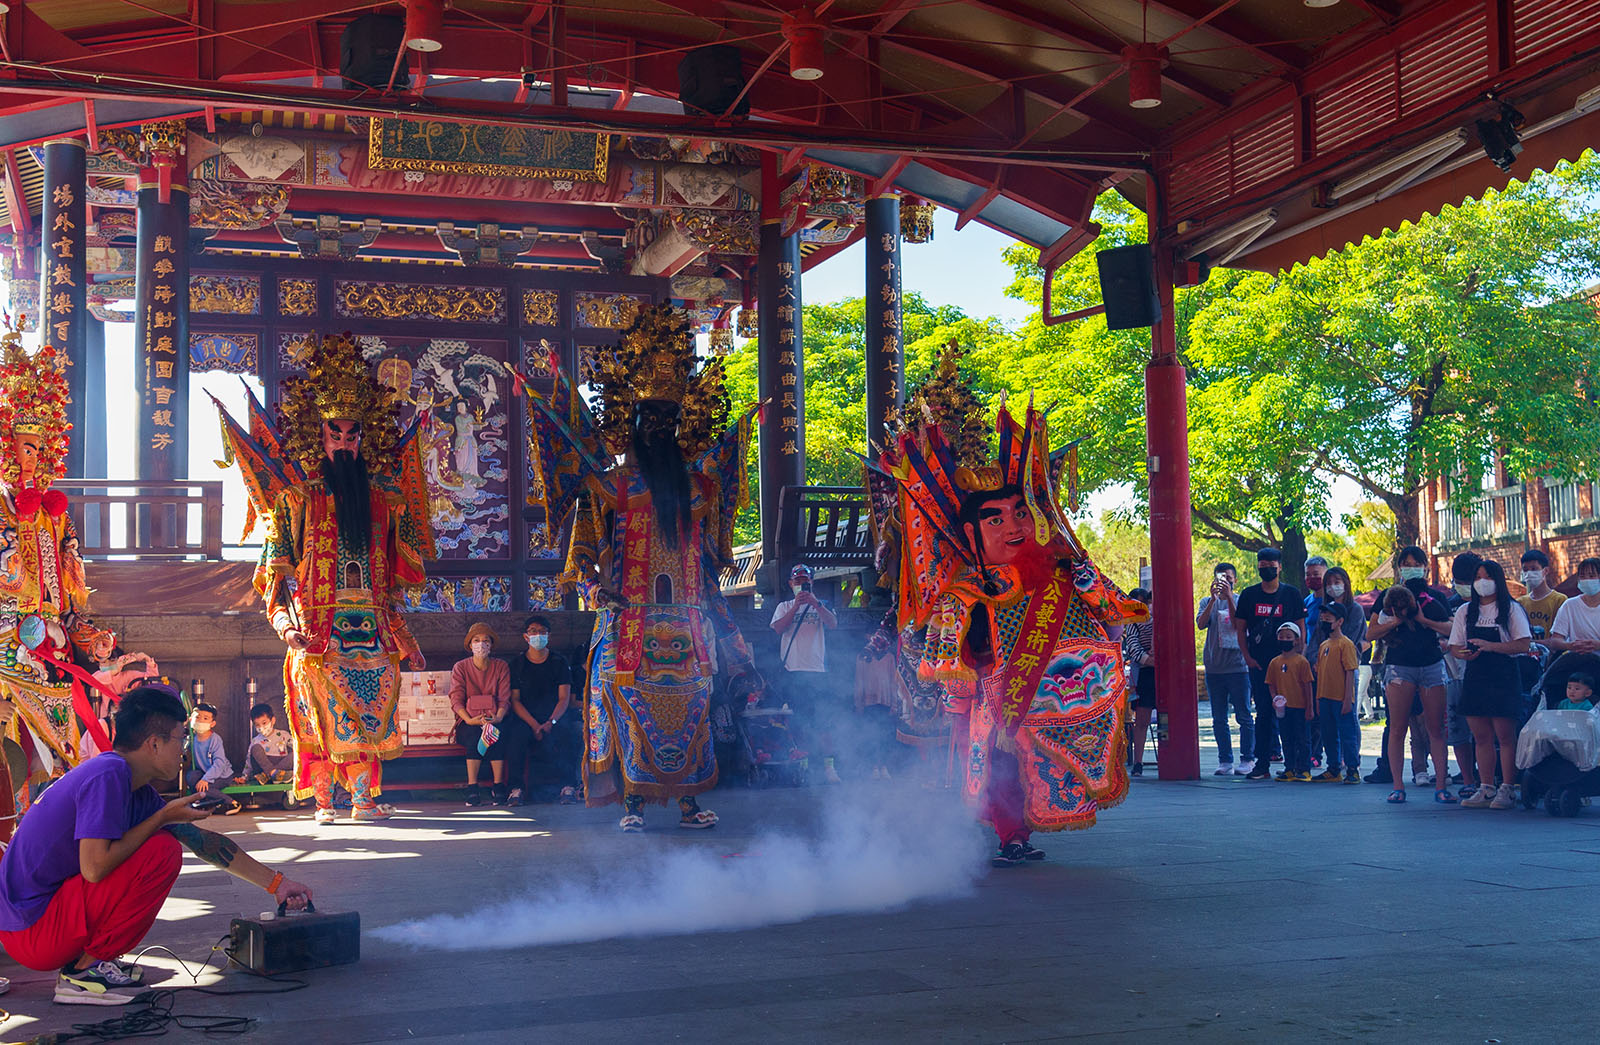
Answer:
<svg viewBox="0 0 1600 1045"><path fill-rule="evenodd" d="M283 451L315 475L323 421L360 421L362 456L374 472L392 472L400 442L395 392L373 376L349 334L323 338L304 354L306 376L283 382L278 430Z"/></svg>

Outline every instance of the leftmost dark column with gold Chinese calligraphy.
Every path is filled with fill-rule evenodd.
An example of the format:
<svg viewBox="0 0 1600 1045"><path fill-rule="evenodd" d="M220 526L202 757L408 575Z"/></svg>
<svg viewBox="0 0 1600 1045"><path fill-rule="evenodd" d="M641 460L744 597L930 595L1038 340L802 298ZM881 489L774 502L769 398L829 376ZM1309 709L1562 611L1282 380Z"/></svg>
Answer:
<svg viewBox="0 0 1600 1045"><path fill-rule="evenodd" d="M86 146L78 139L45 142L45 198L40 218L40 341L56 346L67 360L67 419L72 442L67 445L66 477L83 477L85 403L83 382L88 374L85 330L88 310L83 301L83 246L86 195Z"/></svg>

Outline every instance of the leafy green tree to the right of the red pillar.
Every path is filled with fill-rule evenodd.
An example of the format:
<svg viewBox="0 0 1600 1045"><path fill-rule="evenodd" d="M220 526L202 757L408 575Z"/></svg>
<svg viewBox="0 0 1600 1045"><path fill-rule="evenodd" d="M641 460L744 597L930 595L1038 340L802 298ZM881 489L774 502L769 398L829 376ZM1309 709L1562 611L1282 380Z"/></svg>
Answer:
<svg viewBox="0 0 1600 1045"><path fill-rule="evenodd" d="M1262 453L1306 440L1306 467L1387 506L1400 544L1418 539L1424 483L1475 478L1496 448L1514 475L1587 477L1600 317L1578 291L1600 274L1597 190L1590 152L1290 272L1246 275L1192 317L1190 363L1251 387L1290 376L1306 424Z"/></svg>

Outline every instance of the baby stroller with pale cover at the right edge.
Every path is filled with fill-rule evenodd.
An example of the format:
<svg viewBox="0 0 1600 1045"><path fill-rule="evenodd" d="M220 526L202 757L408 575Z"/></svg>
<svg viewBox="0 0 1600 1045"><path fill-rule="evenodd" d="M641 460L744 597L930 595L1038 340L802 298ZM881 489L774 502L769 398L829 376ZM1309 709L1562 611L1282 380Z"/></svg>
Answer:
<svg viewBox="0 0 1600 1045"><path fill-rule="evenodd" d="M1576 816L1584 799L1600 795L1600 712L1555 711L1574 672L1600 675L1600 655L1563 653L1539 679L1538 711L1517 738L1522 805L1541 800L1550 816Z"/></svg>

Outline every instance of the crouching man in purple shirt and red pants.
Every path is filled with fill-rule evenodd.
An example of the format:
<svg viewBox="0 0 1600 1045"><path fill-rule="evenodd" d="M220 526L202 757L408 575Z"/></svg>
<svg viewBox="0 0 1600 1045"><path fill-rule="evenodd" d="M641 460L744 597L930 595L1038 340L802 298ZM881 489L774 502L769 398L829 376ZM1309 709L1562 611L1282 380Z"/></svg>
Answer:
<svg viewBox="0 0 1600 1045"><path fill-rule="evenodd" d="M182 768L187 715L166 687L128 691L112 749L51 784L0 858L0 946L27 968L61 970L56 1000L125 1005L144 970L120 960L155 923L178 880L181 845L301 909L310 890L194 821L203 795L162 802L152 781Z"/></svg>

